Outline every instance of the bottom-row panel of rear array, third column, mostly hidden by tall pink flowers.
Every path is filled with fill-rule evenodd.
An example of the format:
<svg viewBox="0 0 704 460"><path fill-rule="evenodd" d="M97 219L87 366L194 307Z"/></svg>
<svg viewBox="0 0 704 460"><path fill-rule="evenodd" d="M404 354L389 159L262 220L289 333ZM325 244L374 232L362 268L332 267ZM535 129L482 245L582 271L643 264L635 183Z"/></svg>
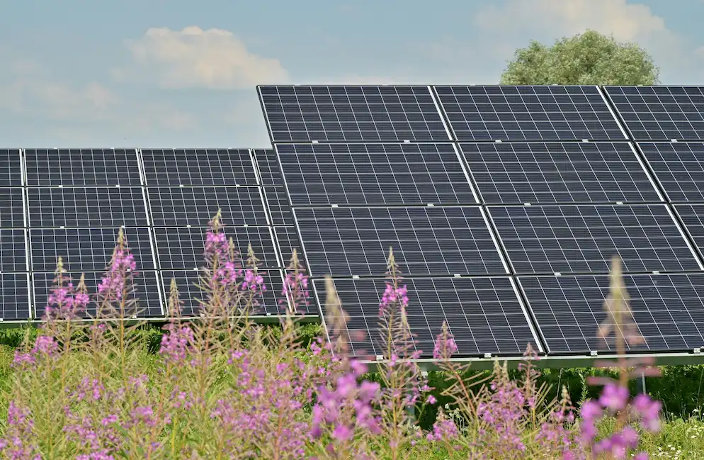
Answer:
<svg viewBox="0 0 704 460"><path fill-rule="evenodd" d="M181 300L181 315L183 316L198 316L200 311L200 302L205 298L205 293L200 289L200 281L198 270L166 270L161 271L161 279L163 281L164 292L166 298L169 298L171 289L171 279L176 279L176 287L178 288L178 298ZM283 288L283 276L279 269L270 269L260 271L259 274L264 279L266 291L256 298L254 305L254 313L256 315L278 315L283 313L281 306L278 304L278 298ZM241 308L245 308L248 299L243 299L239 304Z"/></svg>

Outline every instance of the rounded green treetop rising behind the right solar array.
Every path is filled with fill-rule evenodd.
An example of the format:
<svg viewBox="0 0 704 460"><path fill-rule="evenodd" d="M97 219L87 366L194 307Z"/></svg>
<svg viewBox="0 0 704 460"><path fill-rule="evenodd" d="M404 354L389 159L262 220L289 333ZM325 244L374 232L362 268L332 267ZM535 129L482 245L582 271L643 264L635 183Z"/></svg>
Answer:
<svg viewBox="0 0 704 460"><path fill-rule="evenodd" d="M516 50L501 84L658 84L659 69L635 43L618 43L587 30L547 47L537 41Z"/></svg>

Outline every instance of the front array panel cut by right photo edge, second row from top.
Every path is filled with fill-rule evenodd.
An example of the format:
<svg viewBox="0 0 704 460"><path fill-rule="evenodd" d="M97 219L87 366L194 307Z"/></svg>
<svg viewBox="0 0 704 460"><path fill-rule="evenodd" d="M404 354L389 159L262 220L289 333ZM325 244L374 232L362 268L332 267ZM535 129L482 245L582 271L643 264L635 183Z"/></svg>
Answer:
<svg viewBox="0 0 704 460"><path fill-rule="evenodd" d="M703 142L639 142L670 201L704 201Z"/></svg>

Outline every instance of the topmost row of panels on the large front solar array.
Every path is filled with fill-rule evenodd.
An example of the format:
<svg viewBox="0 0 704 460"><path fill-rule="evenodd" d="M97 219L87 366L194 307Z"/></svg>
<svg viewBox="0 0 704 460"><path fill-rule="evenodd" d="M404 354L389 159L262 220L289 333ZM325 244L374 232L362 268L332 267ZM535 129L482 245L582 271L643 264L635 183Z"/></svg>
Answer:
<svg viewBox="0 0 704 460"><path fill-rule="evenodd" d="M259 86L259 95L272 142L704 140L701 86Z"/></svg>

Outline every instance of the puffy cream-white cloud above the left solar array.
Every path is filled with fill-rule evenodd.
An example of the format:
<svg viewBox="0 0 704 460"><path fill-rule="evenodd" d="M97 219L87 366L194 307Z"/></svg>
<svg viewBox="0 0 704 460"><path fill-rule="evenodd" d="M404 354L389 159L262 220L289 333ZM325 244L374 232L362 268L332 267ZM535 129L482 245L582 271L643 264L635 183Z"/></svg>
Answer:
<svg viewBox="0 0 704 460"><path fill-rule="evenodd" d="M272 58L254 55L232 32L150 28L127 43L135 60L152 69L164 88L247 88L288 82L288 72Z"/></svg>

